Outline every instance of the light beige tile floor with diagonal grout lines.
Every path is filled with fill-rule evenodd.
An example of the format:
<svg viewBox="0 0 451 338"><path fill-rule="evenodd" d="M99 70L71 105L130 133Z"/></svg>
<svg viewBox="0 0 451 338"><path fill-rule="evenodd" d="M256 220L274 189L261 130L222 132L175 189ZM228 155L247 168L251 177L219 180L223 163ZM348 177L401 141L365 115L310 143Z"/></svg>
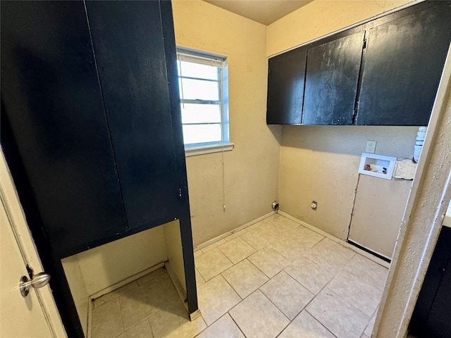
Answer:
<svg viewBox="0 0 451 338"><path fill-rule="evenodd" d="M368 338L388 273L277 214L194 260L201 317L159 269L94 300L92 338Z"/></svg>

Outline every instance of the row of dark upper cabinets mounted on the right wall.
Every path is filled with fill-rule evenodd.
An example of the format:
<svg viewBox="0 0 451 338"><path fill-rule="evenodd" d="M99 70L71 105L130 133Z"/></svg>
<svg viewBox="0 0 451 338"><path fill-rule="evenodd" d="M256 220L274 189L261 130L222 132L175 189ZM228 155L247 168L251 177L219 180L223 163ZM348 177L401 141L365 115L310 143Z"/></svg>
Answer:
<svg viewBox="0 0 451 338"><path fill-rule="evenodd" d="M426 1L271 58L266 123L427 125L450 39Z"/></svg>

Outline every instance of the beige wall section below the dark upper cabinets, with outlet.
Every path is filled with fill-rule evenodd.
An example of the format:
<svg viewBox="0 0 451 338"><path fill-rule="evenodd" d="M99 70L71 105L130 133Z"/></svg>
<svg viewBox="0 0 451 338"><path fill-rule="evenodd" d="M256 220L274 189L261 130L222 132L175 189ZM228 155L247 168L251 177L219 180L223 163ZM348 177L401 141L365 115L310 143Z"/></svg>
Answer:
<svg viewBox="0 0 451 338"><path fill-rule="evenodd" d="M280 149L280 209L346 239L360 156L366 141L377 142L376 154L411 158L417 130L416 127L284 126ZM375 178L374 184L378 180L382 179ZM312 200L318 202L316 211L310 207Z"/></svg>

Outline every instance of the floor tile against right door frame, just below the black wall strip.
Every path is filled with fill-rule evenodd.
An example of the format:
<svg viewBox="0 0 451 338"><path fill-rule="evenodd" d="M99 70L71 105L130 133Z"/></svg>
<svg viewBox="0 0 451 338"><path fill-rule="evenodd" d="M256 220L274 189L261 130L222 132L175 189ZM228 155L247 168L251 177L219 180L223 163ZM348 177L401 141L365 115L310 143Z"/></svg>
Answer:
<svg viewBox="0 0 451 338"><path fill-rule="evenodd" d="M376 262L362 256L355 255L345 265L345 270L349 271L353 275L362 278L369 284L374 285L378 289L383 290L385 287L385 280L388 275L388 268L379 265Z"/></svg>

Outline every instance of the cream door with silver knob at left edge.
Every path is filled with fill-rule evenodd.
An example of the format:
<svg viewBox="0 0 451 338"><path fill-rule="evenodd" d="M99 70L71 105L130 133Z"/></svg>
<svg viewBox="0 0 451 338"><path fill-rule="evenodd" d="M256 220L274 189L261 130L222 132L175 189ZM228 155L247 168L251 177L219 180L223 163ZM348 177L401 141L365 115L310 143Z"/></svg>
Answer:
<svg viewBox="0 0 451 338"><path fill-rule="evenodd" d="M23 297L20 277L28 264L35 273L42 265L28 230L9 175L3 151L0 154L0 337L67 337L49 286L30 289Z"/></svg>

